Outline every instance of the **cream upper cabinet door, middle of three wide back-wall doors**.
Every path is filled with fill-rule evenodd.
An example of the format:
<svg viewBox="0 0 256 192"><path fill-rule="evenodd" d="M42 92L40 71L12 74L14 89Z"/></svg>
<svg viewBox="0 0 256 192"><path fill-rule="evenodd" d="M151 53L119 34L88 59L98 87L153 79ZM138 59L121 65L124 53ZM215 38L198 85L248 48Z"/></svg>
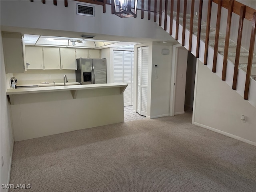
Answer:
<svg viewBox="0 0 256 192"><path fill-rule="evenodd" d="M60 69L60 48L44 47L44 69Z"/></svg>

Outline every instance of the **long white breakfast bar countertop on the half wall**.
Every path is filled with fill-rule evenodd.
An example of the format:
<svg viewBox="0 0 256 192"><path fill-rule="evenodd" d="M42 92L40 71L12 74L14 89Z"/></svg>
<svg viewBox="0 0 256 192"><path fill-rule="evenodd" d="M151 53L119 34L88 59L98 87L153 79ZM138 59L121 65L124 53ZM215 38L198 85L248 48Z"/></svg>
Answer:
<svg viewBox="0 0 256 192"><path fill-rule="evenodd" d="M127 83L106 83L106 84L90 84L90 85L66 85L66 86L42 86L35 88L20 88L20 89L8 89L6 95L15 94L28 94L28 93L42 93L42 92L56 92L56 91L73 91L73 90L85 90L85 89L99 89L99 88L112 88L112 87L124 87Z"/></svg>

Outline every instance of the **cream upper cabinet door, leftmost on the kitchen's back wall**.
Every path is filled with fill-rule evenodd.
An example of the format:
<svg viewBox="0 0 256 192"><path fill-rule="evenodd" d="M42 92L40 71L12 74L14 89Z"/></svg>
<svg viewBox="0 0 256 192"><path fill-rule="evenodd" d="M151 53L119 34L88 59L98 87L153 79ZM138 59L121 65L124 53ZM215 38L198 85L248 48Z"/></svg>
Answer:
<svg viewBox="0 0 256 192"><path fill-rule="evenodd" d="M26 50L26 62L29 64L26 66L27 70L43 70L43 50L42 47L28 47Z"/></svg>

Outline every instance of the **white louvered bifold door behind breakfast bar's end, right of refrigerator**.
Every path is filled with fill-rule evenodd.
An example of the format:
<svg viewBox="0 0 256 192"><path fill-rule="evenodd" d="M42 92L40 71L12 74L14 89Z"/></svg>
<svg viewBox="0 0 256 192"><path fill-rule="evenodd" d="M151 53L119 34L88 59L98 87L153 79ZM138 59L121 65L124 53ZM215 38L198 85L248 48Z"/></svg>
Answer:
<svg viewBox="0 0 256 192"><path fill-rule="evenodd" d="M128 86L124 90L124 106L132 105L133 52L113 51L114 83L124 82Z"/></svg>

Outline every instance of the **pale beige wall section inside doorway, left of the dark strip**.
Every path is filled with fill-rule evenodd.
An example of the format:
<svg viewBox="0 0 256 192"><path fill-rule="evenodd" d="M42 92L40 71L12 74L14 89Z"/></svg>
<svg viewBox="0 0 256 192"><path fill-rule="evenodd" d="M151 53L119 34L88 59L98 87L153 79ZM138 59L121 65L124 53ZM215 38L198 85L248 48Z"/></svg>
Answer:
<svg viewBox="0 0 256 192"><path fill-rule="evenodd" d="M188 50L178 47L174 114L184 113Z"/></svg>

